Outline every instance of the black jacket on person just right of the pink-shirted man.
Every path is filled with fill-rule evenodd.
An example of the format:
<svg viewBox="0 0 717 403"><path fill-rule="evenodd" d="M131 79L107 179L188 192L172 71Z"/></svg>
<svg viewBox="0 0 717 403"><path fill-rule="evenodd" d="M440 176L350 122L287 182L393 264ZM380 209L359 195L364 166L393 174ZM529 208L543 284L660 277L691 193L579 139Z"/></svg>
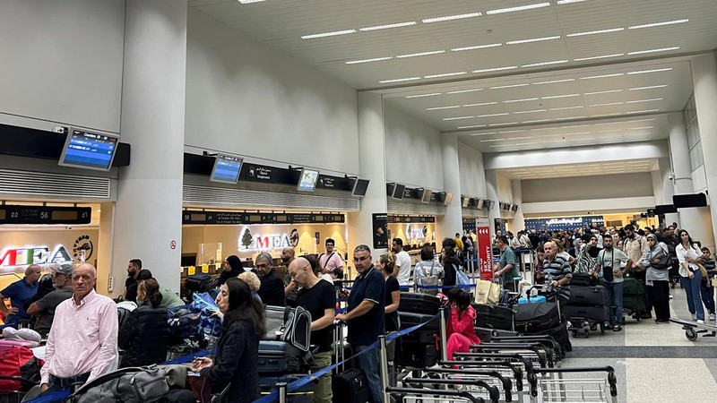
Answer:
<svg viewBox="0 0 717 403"><path fill-rule="evenodd" d="M129 314L117 334L117 345L125 349L121 368L160 364L167 361L169 325L167 308L140 305Z"/></svg>

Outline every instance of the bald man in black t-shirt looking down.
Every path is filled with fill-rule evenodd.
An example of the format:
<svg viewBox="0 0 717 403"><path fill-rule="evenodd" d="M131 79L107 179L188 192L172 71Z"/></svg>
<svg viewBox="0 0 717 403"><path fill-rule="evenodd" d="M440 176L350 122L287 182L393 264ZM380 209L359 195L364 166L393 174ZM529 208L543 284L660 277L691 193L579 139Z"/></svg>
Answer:
<svg viewBox="0 0 717 403"><path fill-rule="evenodd" d="M314 353L312 371L331 365L331 344L333 316L336 314L336 297L333 284L322 281L311 270L307 259L300 257L289 264L291 279L301 287L297 294L297 306L311 313L311 345L317 347ZM314 388L314 402L331 403L331 373L319 378Z"/></svg>

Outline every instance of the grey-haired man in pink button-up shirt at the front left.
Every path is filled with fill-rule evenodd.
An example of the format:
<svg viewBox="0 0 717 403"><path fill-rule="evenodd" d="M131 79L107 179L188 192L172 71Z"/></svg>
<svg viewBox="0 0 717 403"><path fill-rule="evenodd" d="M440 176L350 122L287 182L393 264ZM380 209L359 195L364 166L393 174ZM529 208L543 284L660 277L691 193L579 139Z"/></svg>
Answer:
<svg viewBox="0 0 717 403"><path fill-rule="evenodd" d="M97 270L73 271L73 297L57 305L48 335L40 390L62 390L109 372L117 357L117 304L94 290Z"/></svg>

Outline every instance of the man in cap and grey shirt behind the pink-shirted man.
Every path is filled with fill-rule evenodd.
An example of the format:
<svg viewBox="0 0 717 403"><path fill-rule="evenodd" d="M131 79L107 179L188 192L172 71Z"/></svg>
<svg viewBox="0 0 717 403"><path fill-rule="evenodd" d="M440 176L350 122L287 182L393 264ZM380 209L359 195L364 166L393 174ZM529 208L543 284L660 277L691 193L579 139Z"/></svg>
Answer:
<svg viewBox="0 0 717 403"><path fill-rule="evenodd" d="M52 270L55 272L52 284L56 290L28 307L28 314L38 318L34 329L43 339L48 337L57 305L73 296L73 265L62 264L53 267Z"/></svg>

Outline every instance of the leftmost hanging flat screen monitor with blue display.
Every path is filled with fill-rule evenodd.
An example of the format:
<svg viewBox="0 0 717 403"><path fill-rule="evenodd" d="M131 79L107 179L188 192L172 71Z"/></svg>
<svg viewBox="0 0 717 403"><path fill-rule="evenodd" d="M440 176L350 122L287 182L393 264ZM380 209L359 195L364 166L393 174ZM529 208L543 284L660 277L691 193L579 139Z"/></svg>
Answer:
<svg viewBox="0 0 717 403"><path fill-rule="evenodd" d="M59 165L108 171L115 159L119 137L73 129L67 134Z"/></svg>

